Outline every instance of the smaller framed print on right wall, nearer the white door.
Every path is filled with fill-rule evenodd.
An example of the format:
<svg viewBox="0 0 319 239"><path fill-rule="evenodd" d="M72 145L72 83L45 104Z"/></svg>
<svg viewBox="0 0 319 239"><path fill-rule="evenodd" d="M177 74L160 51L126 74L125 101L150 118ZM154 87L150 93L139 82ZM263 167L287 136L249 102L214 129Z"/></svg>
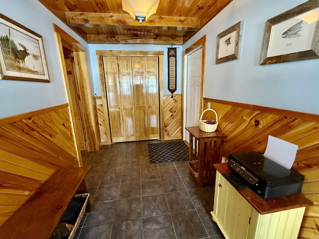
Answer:
<svg viewBox="0 0 319 239"><path fill-rule="evenodd" d="M216 64L239 59L243 21L217 35Z"/></svg>

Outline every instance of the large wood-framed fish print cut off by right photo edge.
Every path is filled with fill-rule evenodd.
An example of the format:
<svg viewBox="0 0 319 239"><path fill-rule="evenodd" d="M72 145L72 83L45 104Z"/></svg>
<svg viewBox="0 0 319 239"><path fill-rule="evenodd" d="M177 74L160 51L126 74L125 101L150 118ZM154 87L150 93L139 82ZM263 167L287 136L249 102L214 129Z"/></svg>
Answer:
<svg viewBox="0 0 319 239"><path fill-rule="evenodd" d="M319 1L309 0L266 22L260 65L319 58Z"/></svg>

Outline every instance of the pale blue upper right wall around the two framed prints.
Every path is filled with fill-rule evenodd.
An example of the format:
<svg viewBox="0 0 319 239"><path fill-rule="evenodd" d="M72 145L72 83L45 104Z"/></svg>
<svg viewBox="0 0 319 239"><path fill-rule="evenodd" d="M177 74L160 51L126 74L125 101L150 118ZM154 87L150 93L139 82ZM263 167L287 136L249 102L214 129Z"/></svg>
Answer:
<svg viewBox="0 0 319 239"><path fill-rule="evenodd" d="M305 0L234 0L183 50L206 35L204 97L319 115L319 59L259 65L265 22ZM240 59L215 64L217 35L244 21Z"/></svg>

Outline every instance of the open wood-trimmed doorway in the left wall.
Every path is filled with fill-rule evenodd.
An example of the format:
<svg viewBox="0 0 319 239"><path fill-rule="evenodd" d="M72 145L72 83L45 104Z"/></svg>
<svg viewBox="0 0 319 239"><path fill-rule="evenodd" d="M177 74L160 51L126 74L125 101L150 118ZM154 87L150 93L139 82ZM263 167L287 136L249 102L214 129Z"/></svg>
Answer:
<svg viewBox="0 0 319 239"><path fill-rule="evenodd" d="M53 24L53 28L63 69L76 151L81 158L81 150L96 151L100 148L100 132L96 124L88 73L87 49L57 25ZM69 65L68 69L66 65Z"/></svg>

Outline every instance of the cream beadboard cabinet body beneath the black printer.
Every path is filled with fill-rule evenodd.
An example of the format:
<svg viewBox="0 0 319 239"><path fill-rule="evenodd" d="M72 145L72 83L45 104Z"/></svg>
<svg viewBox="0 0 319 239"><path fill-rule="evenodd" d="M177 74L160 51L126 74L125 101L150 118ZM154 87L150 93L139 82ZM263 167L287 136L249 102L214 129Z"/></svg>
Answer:
<svg viewBox="0 0 319 239"><path fill-rule="evenodd" d="M226 239L297 239L305 208L260 214L220 172L216 173L211 215Z"/></svg>

